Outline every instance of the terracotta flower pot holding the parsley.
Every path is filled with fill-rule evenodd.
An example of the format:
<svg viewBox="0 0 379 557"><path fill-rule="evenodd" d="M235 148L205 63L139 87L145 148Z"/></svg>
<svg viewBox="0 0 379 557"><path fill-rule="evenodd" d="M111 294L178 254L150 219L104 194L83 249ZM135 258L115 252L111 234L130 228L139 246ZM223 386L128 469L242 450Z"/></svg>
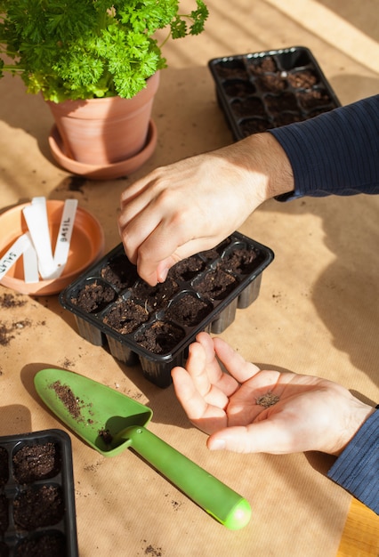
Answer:
<svg viewBox="0 0 379 557"><path fill-rule="evenodd" d="M146 147L158 85L157 72L149 77L146 88L133 99L107 97L60 103L46 101L60 134L65 157L96 168L117 165L135 157Z"/></svg>

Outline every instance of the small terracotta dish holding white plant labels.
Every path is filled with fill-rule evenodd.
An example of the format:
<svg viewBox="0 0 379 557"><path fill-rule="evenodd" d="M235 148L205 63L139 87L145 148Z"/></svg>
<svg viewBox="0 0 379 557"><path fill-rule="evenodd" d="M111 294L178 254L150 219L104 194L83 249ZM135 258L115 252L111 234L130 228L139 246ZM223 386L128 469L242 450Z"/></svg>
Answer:
<svg viewBox="0 0 379 557"><path fill-rule="evenodd" d="M17 238L28 231L27 223L22 214L22 209L28 203L14 206L0 214L0 257L12 247ZM49 220L52 246L60 228L60 218L64 201L47 200L47 215ZM72 280L77 278L89 265L100 259L104 252L104 232L100 222L95 217L77 207L77 214L72 231L69 248L69 258L59 278L39 280L27 284L24 280L24 267L22 257L15 262L0 281L4 287L12 288L20 294L28 295L55 295L67 287Z"/></svg>

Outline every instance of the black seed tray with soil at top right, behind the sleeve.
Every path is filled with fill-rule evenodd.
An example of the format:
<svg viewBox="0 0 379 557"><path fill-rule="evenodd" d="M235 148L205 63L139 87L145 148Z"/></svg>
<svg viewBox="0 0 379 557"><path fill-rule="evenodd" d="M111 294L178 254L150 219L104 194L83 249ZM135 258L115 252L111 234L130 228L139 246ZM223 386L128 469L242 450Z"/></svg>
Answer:
<svg viewBox="0 0 379 557"><path fill-rule="evenodd" d="M208 67L236 141L341 106L303 46L214 58Z"/></svg>

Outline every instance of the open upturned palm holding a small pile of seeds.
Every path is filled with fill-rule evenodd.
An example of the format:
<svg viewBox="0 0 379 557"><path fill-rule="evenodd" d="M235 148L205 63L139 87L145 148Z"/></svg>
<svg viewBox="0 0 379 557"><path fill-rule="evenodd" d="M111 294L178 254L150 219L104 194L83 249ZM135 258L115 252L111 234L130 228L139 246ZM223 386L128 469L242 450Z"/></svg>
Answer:
<svg viewBox="0 0 379 557"><path fill-rule="evenodd" d="M262 371L207 333L190 345L186 368L174 367L172 376L189 420L210 434L210 449L338 455L374 412L337 383Z"/></svg>

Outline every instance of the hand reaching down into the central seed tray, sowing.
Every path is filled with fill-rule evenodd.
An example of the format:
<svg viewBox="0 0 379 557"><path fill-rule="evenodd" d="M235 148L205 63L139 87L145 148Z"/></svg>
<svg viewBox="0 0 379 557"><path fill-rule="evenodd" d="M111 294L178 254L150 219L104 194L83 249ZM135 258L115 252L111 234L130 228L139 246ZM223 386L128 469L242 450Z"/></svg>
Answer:
<svg viewBox="0 0 379 557"><path fill-rule="evenodd" d="M155 286L174 263L216 246L265 199L293 186L286 154L270 133L157 168L121 196L125 253Z"/></svg>

